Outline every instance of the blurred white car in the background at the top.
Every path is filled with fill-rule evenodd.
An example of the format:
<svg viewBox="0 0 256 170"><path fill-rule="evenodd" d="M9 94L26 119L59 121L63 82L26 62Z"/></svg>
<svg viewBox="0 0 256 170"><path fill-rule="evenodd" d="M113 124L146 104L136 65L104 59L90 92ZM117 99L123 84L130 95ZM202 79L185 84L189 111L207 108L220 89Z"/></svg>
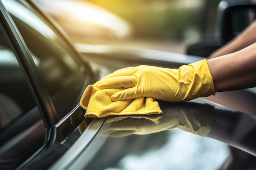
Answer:
<svg viewBox="0 0 256 170"><path fill-rule="evenodd" d="M130 24L105 9L86 1L36 0L72 39L95 41L127 38Z"/></svg>

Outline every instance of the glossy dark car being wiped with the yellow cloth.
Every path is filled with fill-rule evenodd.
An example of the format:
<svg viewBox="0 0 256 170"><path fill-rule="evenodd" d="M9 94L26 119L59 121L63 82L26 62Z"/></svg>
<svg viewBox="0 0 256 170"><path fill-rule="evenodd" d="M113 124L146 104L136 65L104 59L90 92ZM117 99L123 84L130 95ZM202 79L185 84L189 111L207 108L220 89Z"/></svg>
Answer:
<svg viewBox="0 0 256 170"><path fill-rule="evenodd" d="M256 167L255 117L204 99L158 101L162 115L84 117L85 87L116 68L177 68L203 57L75 48L33 1L2 0L0 12L0 169Z"/></svg>

